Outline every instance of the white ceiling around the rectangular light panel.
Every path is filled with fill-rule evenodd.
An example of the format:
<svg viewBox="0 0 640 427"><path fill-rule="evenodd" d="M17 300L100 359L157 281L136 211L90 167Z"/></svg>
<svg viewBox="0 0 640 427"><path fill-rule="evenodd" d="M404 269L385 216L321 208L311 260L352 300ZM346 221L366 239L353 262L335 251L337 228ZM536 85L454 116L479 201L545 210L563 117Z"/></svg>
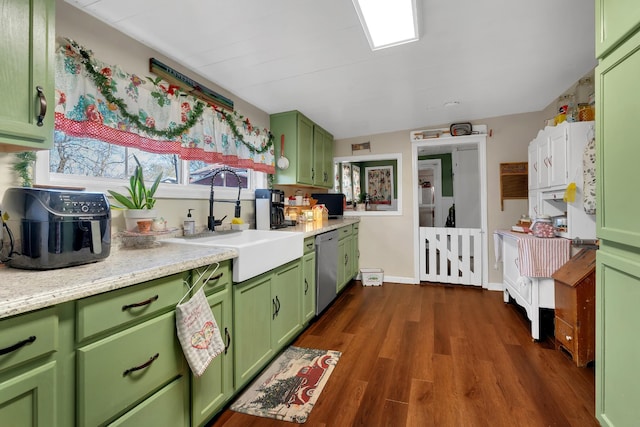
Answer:
<svg viewBox="0 0 640 427"><path fill-rule="evenodd" d="M593 0L417 0L420 41L375 52L351 0L65 1L335 138L540 111L596 65Z"/></svg>

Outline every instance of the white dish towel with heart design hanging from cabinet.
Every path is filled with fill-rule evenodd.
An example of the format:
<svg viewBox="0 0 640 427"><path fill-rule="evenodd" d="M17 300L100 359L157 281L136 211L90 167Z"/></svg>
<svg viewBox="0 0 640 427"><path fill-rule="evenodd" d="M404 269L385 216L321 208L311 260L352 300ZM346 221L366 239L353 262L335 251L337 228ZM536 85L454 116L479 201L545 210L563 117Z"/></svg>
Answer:
<svg viewBox="0 0 640 427"><path fill-rule="evenodd" d="M189 367L197 377L224 351L220 329L202 288L176 306L176 330Z"/></svg>

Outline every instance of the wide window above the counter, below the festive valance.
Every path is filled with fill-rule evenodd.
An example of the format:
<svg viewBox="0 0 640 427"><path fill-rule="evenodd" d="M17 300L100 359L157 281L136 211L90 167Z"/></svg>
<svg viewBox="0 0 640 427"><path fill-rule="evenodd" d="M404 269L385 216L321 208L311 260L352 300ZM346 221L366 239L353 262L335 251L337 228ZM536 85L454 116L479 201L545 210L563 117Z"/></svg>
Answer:
<svg viewBox="0 0 640 427"><path fill-rule="evenodd" d="M103 191L125 186L136 166L134 156L143 166L145 178L152 181L162 174L159 197L202 198L208 195L211 171L223 166L203 161L181 160L174 154L155 154L137 148L122 147L84 138L54 138L51 151L39 152L36 183L57 186L81 186L89 191ZM249 169L234 169L243 189L265 187L267 174ZM216 175L216 187L238 188L233 174ZM243 198L249 195L245 194Z"/></svg>

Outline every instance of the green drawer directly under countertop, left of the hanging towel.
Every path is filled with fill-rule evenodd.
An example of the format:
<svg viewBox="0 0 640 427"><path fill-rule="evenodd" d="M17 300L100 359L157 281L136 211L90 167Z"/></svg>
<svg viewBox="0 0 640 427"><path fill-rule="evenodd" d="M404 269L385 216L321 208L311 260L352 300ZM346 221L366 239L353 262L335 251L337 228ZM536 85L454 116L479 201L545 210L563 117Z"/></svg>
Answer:
<svg viewBox="0 0 640 427"><path fill-rule="evenodd" d="M175 274L79 300L76 305L77 340L133 324L175 307L188 289L184 277Z"/></svg>

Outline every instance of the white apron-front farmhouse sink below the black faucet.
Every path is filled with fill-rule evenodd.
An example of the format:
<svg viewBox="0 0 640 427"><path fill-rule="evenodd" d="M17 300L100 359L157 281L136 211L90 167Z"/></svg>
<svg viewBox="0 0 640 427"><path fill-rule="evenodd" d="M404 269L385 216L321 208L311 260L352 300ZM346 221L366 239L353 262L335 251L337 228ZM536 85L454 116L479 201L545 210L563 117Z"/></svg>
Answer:
<svg viewBox="0 0 640 427"><path fill-rule="evenodd" d="M164 241L235 249L238 251L238 257L233 259L233 281L243 282L302 257L304 233L243 230L212 233L203 237L176 237Z"/></svg>

